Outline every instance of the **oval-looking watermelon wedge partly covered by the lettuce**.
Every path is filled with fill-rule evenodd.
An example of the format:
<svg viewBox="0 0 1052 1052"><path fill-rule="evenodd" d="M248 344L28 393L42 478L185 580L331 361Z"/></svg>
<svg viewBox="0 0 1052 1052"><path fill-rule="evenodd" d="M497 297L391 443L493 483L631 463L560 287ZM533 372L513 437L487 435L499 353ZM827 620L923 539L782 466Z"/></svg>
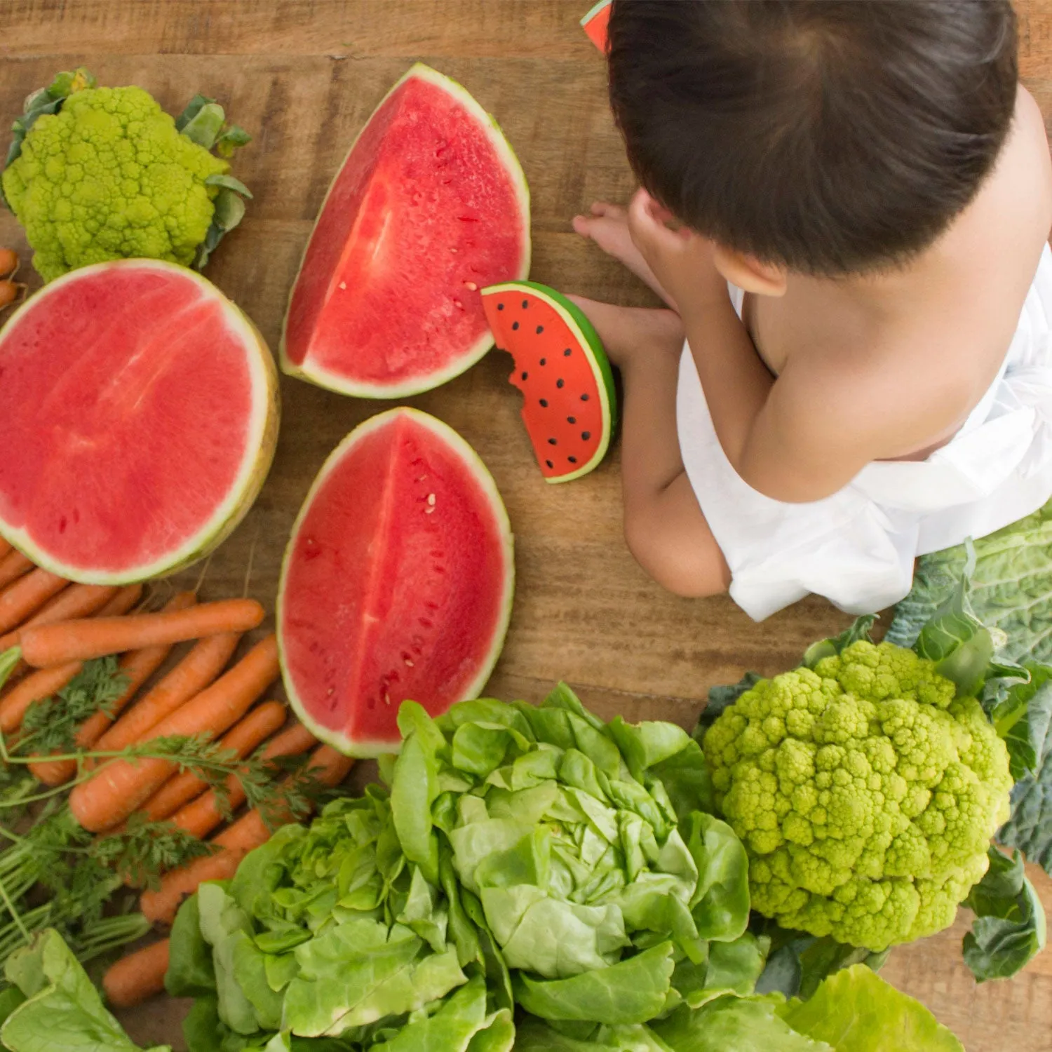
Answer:
<svg viewBox="0 0 1052 1052"><path fill-rule="evenodd" d="M474 450L416 409L366 421L325 462L285 551L294 709L348 755L396 751L403 701L438 715L479 695L513 583L507 512Z"/></svg>

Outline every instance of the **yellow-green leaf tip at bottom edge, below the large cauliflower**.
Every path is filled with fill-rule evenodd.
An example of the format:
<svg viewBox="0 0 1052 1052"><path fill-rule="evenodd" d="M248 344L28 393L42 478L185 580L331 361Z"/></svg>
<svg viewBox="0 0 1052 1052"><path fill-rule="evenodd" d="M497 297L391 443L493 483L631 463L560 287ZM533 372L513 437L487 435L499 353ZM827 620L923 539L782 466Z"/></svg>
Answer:
<svg viewBox="0 0 1052 1052"><path fill-rule="evenodd" d="M836 972L810 1000L791 1000L778 1014L835 1052L964 1052L924 1005L865 965Z"/></svg>

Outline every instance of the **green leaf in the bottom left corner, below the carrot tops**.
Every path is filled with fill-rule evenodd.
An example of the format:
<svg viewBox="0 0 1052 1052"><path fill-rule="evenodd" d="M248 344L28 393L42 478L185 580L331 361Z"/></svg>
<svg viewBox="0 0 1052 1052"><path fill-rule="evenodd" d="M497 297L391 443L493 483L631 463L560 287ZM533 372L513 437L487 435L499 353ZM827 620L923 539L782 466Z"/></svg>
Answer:
<svg viewBox="0 0 1052 1052"><path fill-rule="evenodd" d="M9 1052L138 1052L57 931L13 953L4 974L26 998L0 1027Z"/></svg>

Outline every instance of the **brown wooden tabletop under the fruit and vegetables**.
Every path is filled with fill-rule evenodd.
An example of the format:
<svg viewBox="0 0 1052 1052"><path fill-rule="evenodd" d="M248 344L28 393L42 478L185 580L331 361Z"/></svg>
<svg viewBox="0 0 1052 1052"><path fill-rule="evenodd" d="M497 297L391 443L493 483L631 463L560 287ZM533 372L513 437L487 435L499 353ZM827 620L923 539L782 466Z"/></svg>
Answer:
<svg viewBox="0 0 1052 1052"><path fill-rule="evenodd" d="M217 97L255 136L235 171L256 197L208 276L277 345L289 285L325 189L390 84L421 59L462 82L501 122L532 190L532 277L567 291L650 305L650 294L569 227L595 199L633 188L605 98L604 64L576 22L590 0L4 0L0 114L59 69L86 65L104 84L136 83L173 113ZM1052 0L1019 0L1026 83L1052 119ZM0 244L25 248L0 215ZM411 403L479 450L517 535L518 594L490 685L539 701L558 679L605 716L690 727L709 686L746 669L790 667L847 619L811 599L763 625L729 600L663 592L622 539L619 456L567 486L539 474L493 353ZM278 456L250 514L213 558L204 590L246 587L272 608L282 550L310 481L356 424L386 407L282 382ZM199 571L191 571L194 580ZM365 774L367 775L367 771ZM363 775L364 776L364 775ZM1052 882L1037 877L1052 909ZM1052 953L1010 983L976 988L960 962L967 922L893 954L885 975L920 997L969 1049L1052 1049ZM182 1048L183 1006L129 1013L141 1041Z"/></svg>

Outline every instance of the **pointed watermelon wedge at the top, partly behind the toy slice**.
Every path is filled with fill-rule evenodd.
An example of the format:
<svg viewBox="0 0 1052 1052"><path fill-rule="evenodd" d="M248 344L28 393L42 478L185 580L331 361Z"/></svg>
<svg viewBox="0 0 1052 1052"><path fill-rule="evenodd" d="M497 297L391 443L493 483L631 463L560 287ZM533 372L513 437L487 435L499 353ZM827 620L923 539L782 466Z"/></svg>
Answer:
<svg viewBox="0 0 1052 1052"><path fill-rule="evenodd" d="M414 65L337 174L292 287L290 376L361 398L429 390L492 346L479 289L529 274L529 191L489 115Z"/></svg>

